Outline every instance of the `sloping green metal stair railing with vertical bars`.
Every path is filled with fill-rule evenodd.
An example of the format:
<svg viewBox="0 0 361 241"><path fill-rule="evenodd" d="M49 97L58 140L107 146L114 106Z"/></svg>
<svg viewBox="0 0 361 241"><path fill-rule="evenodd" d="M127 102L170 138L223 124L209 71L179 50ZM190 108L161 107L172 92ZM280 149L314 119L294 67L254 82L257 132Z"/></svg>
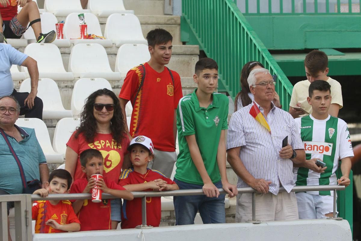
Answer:
<svg viewBox="0 0 361 241"><path fill-rule="evenodd" d="M277 75L276 91L288 111L293 86L232 0L182 0L182 33L191 33L206 55L218 63L219 90L234 99L240 71L259 61ZM183 24L184 23L184 24Z"/></svg>

